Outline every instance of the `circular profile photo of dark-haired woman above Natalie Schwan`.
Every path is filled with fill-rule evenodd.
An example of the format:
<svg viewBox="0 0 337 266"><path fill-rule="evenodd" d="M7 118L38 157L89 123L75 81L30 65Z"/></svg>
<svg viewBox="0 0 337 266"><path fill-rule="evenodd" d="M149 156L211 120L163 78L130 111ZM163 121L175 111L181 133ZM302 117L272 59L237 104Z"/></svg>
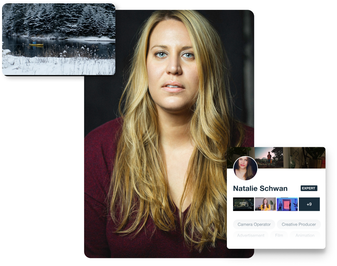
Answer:
<svg viewBox="0 0 337 266"><path fill-rule="evenodd" d="M255 160L248 156L243 156L236 160L233 168L235 175L241 180L252 179L257 172Z"/></svg>

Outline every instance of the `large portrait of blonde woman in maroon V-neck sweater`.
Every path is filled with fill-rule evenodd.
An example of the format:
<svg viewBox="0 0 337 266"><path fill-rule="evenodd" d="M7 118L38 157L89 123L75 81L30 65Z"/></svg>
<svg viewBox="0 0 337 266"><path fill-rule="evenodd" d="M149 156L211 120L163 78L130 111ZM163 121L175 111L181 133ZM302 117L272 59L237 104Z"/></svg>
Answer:
<svg viewBox="0 0 337 266"><path fill-rule="evenodd" d="M121 118L85 138L87 257L252 256L225 241L226 149L253 144L231 116L225 59L196 11L146 21Z"/></svg>

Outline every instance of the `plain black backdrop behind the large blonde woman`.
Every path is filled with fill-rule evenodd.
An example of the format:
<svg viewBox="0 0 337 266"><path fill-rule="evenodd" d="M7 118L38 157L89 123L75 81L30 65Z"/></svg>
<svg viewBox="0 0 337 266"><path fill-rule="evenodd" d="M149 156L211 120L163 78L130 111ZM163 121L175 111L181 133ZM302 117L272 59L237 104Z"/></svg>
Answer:
<svg viewBox="0 0 337 266"><path fill-rule="evenodd" d="M84 136L96 127L118 117L118 103L123 90L123 74L128 66L137 33L153 10L116 10L116 73L113 76L84 77ZM243 86L243 11L197 10L220 34L232 66L231 91L235 95L235 115L243 123L247 119ZM253 22L254 14L251 12ZM252 23L252 25L254 25ZM252 26L252 32L253 26ZM124 80L127 77L124 76ZM254 110L250 110L254 111ZM250 125L254 127L254 125Z"/></svg>

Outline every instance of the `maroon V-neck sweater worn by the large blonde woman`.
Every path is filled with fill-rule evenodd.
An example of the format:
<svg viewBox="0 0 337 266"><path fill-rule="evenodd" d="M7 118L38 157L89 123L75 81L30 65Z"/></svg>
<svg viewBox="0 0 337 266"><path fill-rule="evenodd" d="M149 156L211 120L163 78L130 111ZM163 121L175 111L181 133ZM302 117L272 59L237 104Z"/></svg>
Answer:
<svg viewBox="0 0 337 266"><path fill-rule="evenodd" d="M146 230L134 238L132 234L114 233L115 225L107 212L106 197L120 122L121 119L115 119L105 123L84 138L84 255L87 258L250 258L253 249L228 249L225 240L217 240L215 248L204 248L202 253L190 251L180 231L178 208L175 212L176 231L156 229L152 235L155 225L149 218ZM242 146L253 146L254 129L245 129L248 134ZM187 211L188 208L184 213Z"/></svg>

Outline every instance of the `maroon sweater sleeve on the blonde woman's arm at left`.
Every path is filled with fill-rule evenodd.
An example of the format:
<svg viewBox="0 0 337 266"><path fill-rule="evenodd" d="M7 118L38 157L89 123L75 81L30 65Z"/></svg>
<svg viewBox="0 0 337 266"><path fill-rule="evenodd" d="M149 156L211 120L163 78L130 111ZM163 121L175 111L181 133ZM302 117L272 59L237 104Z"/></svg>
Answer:
<svg viewBox="0 0 337 266"><path fill-rule="evenodd" d="M121 128L122 120L118 118L84 138L84 252L88 258L110 258L107 198Z"/></svg>

